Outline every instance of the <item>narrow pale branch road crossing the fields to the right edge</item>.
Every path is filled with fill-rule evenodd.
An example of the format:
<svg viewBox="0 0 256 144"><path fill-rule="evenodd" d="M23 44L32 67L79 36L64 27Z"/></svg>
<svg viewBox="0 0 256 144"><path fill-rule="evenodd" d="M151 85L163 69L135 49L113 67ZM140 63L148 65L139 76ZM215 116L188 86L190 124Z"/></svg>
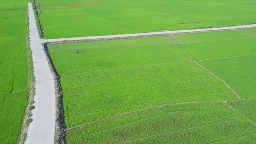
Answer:
<svg viewBox="0 0 256 144"><path fill-rule="evenodd" d="M227 27L209 28L209 29L189 29L189 30L174 30L174 31L165 31L165 32L108 35L108 36L86 36L86 37L61 38L61 39L43 39L43 43L76 41L76 40L79 41L79 40L95 40L95 39L115 39L115 38L154 36L154 35L166 35L166 34L172 35L172 34L181 34L181 33L202 33L202 32L220 31L220 30L246 29L246 28L253 28L253 27L256 27L256 24L243 25L243 26L227 26Z"/></svg>

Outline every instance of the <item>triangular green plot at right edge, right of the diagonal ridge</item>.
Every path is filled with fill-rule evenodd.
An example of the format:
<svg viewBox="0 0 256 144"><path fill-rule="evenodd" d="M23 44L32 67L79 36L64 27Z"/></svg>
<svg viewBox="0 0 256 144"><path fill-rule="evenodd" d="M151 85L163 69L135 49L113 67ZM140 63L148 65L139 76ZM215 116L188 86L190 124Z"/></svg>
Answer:
<svg viewBox="0 0 256 144"><path fill-rule="evenodd" d="M256 97L256 56L243 56L200 62L229 83L242 98Z"/></svg>

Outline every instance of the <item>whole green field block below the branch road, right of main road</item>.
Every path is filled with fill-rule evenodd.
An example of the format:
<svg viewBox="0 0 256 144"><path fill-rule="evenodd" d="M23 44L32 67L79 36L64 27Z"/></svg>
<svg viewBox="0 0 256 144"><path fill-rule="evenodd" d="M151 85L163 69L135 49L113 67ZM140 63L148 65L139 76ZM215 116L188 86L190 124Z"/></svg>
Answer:
<svg viewBox="0 0 256 144"><path fill-rule="evenodd" d="M241 29L49 45L66 142L253 143L255 41Z"/></svg>

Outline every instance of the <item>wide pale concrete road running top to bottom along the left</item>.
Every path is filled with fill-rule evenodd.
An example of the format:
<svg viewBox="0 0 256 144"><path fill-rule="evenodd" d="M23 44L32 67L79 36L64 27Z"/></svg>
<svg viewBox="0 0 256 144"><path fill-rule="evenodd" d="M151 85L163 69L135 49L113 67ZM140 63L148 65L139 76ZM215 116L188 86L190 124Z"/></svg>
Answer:
<svg viewBox="0 0 256 144"><path fill-rule="evenodd" d="M43 51L31 3L28 3L30 48L36 77L33 121L30 123L25 144L53 144L55 132L55 86L53 75Z"/></svg>

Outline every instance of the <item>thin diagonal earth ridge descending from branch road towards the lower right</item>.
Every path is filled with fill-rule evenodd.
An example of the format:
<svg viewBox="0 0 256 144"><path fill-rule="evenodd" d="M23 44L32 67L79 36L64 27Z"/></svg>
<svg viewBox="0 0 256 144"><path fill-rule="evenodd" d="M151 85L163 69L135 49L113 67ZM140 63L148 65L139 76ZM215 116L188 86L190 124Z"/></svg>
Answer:
<svg viewBox="0 0 256 144"><path fill-rule="evenodd" d="M175 45L176 46L176 45ZM194 60L194 58L192 56L190 56L187 52L185 52L183 49L181 49L180 47L176 46L178 49L181 50L181 52L183 52L184 54L186 54L187 56L190 57L190 59ZM198 66L200 66L201 68L203 68L204 70L206 70L207 72L209 72L211 75L215 76L217 79L219 79L221 82L223 82L228 88L230 88L230 90L236 95L236 97L238 99L241 99L241 96L228 84L226 83L223 79L221 79L220 77L218 77L217 75L215 75L213 72L211 72L209 69L206 69L205 67L203 67L203 65L200 65L196 60L194 60L194 63L197 64Z"/></svg>

